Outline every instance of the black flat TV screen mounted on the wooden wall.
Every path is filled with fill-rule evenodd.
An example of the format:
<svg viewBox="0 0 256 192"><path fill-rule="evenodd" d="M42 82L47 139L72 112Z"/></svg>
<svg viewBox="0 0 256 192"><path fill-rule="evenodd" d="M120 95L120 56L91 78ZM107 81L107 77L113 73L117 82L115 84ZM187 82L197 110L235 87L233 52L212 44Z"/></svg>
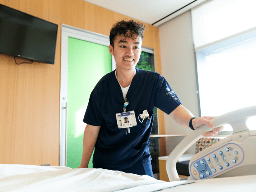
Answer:
<svg viewBox="0 0 256 192"><path fill-rule="evenodd" d="M54 64L58 25L0 4L0 52Z"/></svg>

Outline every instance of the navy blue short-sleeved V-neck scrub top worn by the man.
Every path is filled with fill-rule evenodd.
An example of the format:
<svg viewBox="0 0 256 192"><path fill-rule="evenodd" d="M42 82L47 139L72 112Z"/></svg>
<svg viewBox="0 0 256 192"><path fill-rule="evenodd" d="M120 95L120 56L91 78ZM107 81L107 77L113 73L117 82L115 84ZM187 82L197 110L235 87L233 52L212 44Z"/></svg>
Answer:
<svg viewBox="0 0 256 192"><path fill-rule="evenodd" d="M149 136L153 126L154 106L170 114L181 102L166 79L154 71L136 68L126 98L126 111L135 111L137 126L130 133L119 129L116 114L123 112L123 93L115 71L102 77L92 90L83 122L101 126L93 154L93 167L111 170L129 168L138 161L151 161ZM147 109L150 120L138 120Z"/></svg>

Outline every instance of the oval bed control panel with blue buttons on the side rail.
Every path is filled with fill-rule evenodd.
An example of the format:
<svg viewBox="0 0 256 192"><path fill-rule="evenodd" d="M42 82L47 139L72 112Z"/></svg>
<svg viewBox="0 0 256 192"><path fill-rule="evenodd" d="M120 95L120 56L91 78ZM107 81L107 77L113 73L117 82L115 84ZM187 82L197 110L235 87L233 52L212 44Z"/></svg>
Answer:
<svg viewBox="0 0 256 192"><path fill-rule="evenodd" d="M196 179L207 179L238 166L244 160L242 148L228 143L215 149L190 164L190 175Z"/></svg>

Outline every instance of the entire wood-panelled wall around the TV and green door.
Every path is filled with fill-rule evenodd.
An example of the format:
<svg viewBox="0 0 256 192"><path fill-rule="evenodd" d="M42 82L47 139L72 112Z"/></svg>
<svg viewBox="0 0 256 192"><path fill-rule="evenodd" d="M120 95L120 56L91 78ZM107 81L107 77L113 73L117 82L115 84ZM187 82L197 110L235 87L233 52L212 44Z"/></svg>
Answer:
<svg viewBox="0 0 256 192"><path fill-rule="evenodd" d="M16 65L0 54L0 164L59 165L59 89L61 24L109 35L128 18L83 0L0 0L0 3L59 25L55 64ZM161 74L159 28L145 24L143 46L155 50ZM159 112L159 133L164 114ZM165 140L161 139L161 155Z"/></svg>

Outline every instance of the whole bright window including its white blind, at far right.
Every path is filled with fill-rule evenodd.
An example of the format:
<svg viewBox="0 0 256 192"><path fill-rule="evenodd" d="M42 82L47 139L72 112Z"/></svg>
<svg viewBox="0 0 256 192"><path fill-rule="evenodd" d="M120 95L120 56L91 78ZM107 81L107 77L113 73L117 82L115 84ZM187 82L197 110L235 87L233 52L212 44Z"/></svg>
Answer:
<svg viewBox="0 0 256 192"><path fill-rule="evenodd" d="M256 0L208 0L191 11L201 116L256 105L255 7ZM247 123L256 130L256 117Z"/></svg>

